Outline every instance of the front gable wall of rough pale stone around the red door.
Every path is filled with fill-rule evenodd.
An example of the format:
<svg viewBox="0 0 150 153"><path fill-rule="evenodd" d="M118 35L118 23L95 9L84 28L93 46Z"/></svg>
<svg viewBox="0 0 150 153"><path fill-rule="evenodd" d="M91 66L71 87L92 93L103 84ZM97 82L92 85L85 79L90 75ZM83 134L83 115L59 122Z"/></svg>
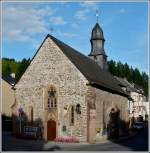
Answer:
<svg viewBox="0 0 150 153"><path fill-rule="evenodd" d="M46 122L48 116L45 111L47 102L47 87L53 85L57 92L57 136L74 135L80 140L86 141L87 135L87 104L85 101L87 80L79 70L71 63L55 43L47 38L38 54L32 60L30 66L20 79L16 87L16 100L19 105L34 108L34 120L41 119ZM69 123L69 107L81 105L81 115L75 112L74 126ZM67 108L67 111L64 110ZM66 112L65 112L66 111ZM28 114L28 113L27 113ZM54 113L55 114L55 113ZM63 126L66 131L63 132ZM46 137L46 135L45 135Z"/></svg>

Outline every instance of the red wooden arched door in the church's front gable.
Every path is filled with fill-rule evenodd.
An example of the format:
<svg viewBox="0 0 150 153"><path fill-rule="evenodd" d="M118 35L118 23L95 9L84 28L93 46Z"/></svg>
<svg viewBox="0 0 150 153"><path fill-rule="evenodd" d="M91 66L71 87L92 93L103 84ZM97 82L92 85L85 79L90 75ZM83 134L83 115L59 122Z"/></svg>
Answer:
<svg viewBox="0 0 150 153"><path fill-rule="evenodd" d="M47 140L54 140L56 138L56 122L49 120L47 122Z"/></svg>

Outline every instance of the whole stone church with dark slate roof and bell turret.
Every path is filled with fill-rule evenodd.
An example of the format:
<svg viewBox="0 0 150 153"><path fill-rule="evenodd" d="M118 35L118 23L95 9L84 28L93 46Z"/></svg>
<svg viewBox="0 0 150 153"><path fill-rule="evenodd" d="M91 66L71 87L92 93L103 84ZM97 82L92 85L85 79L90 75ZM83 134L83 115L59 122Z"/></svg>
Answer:
<svg viewBox="0 0 150 153"><path fill-rule="evenodd" d="M85 56L46 36L14 87L14 134L30 125L40 127L45 140L74 136L95 142L107 129L112 110L118 112L118 121L128 122L129 94L107 71L105 39L98 23L90 41L91 52Z"/></svg>

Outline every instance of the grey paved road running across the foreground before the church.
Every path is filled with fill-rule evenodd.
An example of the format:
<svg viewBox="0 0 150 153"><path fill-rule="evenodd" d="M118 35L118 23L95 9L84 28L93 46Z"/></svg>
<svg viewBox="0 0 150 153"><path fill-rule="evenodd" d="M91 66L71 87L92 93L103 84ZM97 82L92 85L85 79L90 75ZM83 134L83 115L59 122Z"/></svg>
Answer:
<svg viewBox="0 0 150 153"><path fill-rule="evenodd" d="M138 133L128 139L118 142L103 144L56 144L44 143L39 140L20 140L13 138L10 133L3 133L2 148L4 151L38 151L38 150L62 150L62 151L147 151L148 130Z"/></svg>

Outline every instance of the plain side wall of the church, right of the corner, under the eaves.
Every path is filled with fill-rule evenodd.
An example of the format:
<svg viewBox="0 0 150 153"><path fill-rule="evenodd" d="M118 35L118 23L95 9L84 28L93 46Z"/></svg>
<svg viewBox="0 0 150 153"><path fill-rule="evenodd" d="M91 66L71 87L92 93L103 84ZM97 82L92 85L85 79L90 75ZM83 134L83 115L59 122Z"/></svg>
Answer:
<svg viewBox="0 0 150 153"><path fill-rule="evenodd" d="M125 122L128 121L128 99L126 97L103 91L92 86L88 87L88 93L90 93L88 97L92 97L92 95L96 97L95 100L91 98L91 101L93 100L93 103L96 105L96 128L102 130L107 127L109 113L111 109L115 107L120 110L120 119Z"/></svg>

